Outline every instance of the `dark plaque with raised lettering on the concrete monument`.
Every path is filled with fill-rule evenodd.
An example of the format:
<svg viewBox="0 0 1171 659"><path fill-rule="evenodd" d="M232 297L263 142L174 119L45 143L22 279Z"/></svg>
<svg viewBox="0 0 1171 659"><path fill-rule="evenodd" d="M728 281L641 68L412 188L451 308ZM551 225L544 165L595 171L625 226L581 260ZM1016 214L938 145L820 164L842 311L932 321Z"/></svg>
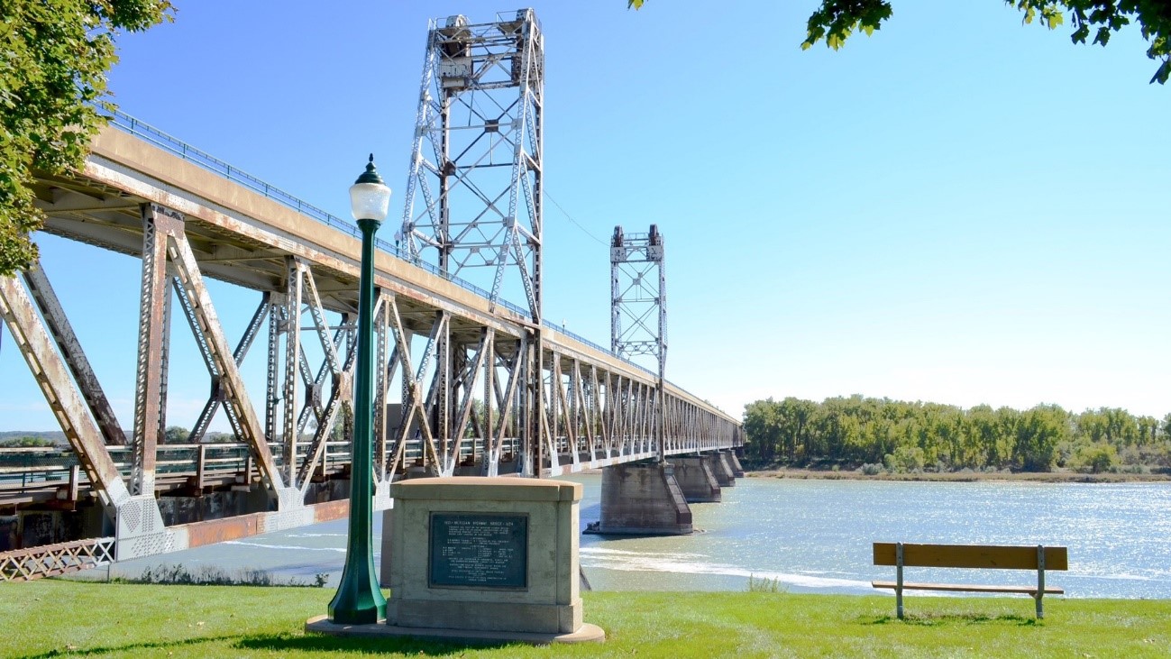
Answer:
<svg viewBox="0 0 1171 659"><path fill-rule="evenodd" d="M528 516L431 513L429 586L527 588Z"/></svg>

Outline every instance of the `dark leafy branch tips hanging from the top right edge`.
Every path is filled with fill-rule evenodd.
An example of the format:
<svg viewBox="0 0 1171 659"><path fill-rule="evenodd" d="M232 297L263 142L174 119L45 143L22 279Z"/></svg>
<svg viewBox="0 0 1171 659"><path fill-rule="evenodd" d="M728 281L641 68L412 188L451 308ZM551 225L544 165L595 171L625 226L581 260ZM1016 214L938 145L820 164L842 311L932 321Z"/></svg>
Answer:
<svg viewBox="0 0 1171 659"><path fill-rule="evenodd" d="M626 0L628 7L642 8L644 0ZM1105 46L1110 36L1131 23L1138 23L1143 39L1150 43L1146 56L1159 61L1151 82L1163 84L1171 77L1171 2L1167 0L1005 0L1020 9L1026 23L1038 22L1049 29L1066 23L1068 16L1074 43ZM837 50L856 32L874 34L893 14L890 0L821 0L809 15L802 49L824 40Z"/></svg>

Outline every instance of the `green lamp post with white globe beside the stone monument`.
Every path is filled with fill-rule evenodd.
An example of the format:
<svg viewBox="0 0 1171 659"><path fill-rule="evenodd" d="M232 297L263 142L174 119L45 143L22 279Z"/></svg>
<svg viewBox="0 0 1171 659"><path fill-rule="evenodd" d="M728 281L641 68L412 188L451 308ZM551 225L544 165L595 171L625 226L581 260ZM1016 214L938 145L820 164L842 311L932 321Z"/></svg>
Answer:
<svg viewBox="0 0 1171 659"><path fill-rule="evenodd" d="M386 617L386 598L378 590L374 568L371 517L374 499L374 234L386 219L390 188L374 167L350 187L350 210L362 229L362 280L358 283L357 384L354 393L354 451L350 467L350 531L345 568L337 595L329 603L329 620L369 624Z"/></svg>

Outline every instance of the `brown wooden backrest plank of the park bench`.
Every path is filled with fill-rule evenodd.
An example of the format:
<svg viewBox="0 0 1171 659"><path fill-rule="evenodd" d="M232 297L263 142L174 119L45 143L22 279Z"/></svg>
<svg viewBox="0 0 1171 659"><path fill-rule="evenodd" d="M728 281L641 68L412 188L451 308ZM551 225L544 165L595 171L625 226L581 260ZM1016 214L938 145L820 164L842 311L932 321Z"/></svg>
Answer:
<svg viewBox="0 0 1171 659"><path fill-rule="evenodd" d="M875 543L875 565L897 565L893 542ZM997 568L1035 570L1036 547L989 544L909 544L903 543L903 565L918 568ZM1068 570L1064 547L1045 548L1046 570Z"/></svg>

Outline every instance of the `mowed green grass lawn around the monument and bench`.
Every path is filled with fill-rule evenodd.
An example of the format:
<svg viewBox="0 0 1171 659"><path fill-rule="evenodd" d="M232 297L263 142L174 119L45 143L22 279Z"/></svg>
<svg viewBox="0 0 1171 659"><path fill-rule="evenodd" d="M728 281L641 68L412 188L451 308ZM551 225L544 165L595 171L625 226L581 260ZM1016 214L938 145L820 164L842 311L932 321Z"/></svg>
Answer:
<svg viewBox="0 0 1171 659"><path fill-rule="evenodd" d="M0 584L0 657L1167 657L1171 600L587 592L601 645L306 634L331 589Z"/></svg>

